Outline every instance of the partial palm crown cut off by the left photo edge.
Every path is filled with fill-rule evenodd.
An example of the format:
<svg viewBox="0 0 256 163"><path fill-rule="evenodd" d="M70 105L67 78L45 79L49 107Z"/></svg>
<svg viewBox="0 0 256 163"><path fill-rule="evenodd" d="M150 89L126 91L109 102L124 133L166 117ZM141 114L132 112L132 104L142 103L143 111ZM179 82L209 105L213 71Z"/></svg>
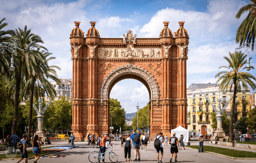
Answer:
<svg viewBox="0 0 256 163"><path fill-rule="evenodd" d="M14 33L14 30L2 30L4 27L8 25L8 23L3 23L3 21L6 20L6 18L3 18L0 20L0 49L8 42L11 42L11 35ZM1 51L2 52L2 51ZM8 73L8 61L10 62L10 55L8 51L5 51L5 54L3 54L4 57L0 57L0 74L3 76L4 74Z"/></svg>

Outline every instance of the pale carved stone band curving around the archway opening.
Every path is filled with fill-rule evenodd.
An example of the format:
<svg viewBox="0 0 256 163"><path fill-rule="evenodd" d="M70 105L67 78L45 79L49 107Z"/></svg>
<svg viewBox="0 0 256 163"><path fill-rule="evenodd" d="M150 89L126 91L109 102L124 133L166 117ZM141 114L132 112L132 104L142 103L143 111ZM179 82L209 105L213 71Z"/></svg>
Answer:
<svg viewBox="0 0 256 163"><path fill-rule="evenodd" d="M104 81L102 82L101 90L100 90L101 101L107 100L109 98L108 92L110 92L110 86L113 83L113 81L117 77L120 77L120 75L129 74L129 73L143 78L150 88L150 98L159 99L159 96L160 96L159 86L154 76L151 75L151 73L148 72L148 70L145 70L140 66L138 67L138 66L133 66L131 64L128 64L126 66L123 65L122 67L119 66L118 68L115 68L114 70L108 73L106 78L104 78Z"/></svg>

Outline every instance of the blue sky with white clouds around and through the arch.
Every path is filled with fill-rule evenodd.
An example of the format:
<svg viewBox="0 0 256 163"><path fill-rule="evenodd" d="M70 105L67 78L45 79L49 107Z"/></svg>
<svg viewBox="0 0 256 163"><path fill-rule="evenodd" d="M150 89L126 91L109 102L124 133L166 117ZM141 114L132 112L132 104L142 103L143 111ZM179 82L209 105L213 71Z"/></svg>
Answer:
<svg viewBox="0 0 256 163"><path fill-rule="evenodd" d="M70 34L74 21L81 21L80 29L87 32L90 21L101 38L123 38L131 29L137 38L158 38L163 21L169 21L172 33L185 21L189 34L187 86L191 83L216 83L215 74L227 65L224 56L239 47L235 42L236 30L247 13L240 19L235 15L248 0L8 0L0 2L0 15L6 18L7 29L32 29L44 41L55 60L62 79L72 78ZM1 19L2 19L1 18ZM241 49L244 51L243 49ZM247 54L247 53L246 53ZM251 65L256 67L255 52L250 52ZM251 70L256 76L256 71ZM136 112L149 102L146 87L137 80L125 79L116 83L110 98L117 98L127 113Z"/></svg>

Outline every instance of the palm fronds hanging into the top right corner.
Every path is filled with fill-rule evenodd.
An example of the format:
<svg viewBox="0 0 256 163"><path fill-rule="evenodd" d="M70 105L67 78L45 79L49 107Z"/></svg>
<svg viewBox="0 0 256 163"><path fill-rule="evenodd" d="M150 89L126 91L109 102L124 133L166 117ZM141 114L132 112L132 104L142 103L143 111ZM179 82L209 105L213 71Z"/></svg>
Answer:
<svg viewBox="0 0 256 163"><path fill-rule="evenodd" d="M246 44L248 42L255 43L256 36L256 0L250 0L251 3L241 7L236 14L236 18L239 19L244 12L249 12L247 17L238 27L236 31L236 43ZM253 49L253 47L252 47Z"/></svg>

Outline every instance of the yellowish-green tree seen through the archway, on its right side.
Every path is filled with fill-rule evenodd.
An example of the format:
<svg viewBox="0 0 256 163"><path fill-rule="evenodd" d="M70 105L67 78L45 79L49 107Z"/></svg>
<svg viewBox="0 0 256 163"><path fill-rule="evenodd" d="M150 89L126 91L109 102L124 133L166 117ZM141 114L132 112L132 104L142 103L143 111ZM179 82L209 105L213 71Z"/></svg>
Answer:
<svg viewBox="0 0 256 163"><path fill-rule="evenodd" d="M139 109L139 128L145 128L149 125L149 116L147 111L149 111L149 103L142 109ZM137 112L133 118L133 129L137 129Z"/></svg>

